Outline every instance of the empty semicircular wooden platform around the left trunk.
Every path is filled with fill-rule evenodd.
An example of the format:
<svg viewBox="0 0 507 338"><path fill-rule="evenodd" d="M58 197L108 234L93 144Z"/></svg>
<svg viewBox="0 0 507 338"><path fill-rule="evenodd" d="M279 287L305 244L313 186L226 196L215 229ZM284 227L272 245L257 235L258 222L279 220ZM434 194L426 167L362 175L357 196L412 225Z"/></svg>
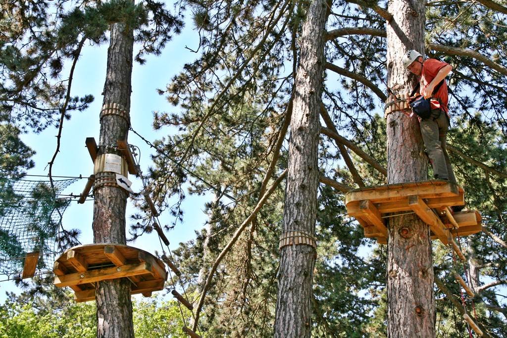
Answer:
<svg viewBox="0 0 507 338"><path fill-rule="evenodd" d="M95 299L98 281L128 278L131 294L150 296L164 288L167 272L164 263L141 249L127 245L99 243L75 246L55 261L54 284L74 290L76 302Z"/></svg>

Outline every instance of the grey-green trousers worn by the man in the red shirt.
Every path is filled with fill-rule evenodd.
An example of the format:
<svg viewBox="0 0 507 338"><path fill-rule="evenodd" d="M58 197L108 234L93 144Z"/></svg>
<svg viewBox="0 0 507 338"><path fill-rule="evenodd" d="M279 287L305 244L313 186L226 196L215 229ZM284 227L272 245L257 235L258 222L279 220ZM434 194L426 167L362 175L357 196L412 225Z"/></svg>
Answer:
<svg viewBox="0 0 507 338"><path fill-rule="evenodd" d="M440 109L433 109L431 110L431 117L421 120L420 125L422 140L433 165L435 178L448 179L456 183L456 177L446 148L446 135L449 130L447 114L445 111L441 112Z"/></svg>

